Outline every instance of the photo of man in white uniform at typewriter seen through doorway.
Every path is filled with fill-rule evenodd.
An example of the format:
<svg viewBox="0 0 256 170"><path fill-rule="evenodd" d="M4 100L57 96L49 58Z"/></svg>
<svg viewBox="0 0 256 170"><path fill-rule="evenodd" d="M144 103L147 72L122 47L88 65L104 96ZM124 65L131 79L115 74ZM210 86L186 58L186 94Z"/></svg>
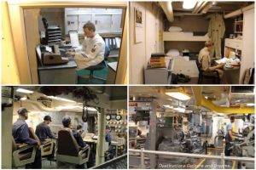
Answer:
<svg viewBox="0 0 256 170"><path fill-rule="evenodd" d="M2 84L127 84L127 2L1 5Z"/></svg>

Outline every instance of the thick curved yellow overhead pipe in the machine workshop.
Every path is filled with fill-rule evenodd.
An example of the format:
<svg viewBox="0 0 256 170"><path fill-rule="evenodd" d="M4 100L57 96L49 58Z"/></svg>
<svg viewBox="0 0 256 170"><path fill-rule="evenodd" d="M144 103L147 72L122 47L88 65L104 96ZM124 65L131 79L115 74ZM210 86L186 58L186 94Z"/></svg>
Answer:
<svg viewBox="0 0 256 170"><path fill-rule="evenodd" d="M201 87L194 86L191 88L195 97L196 106L202 106L209 110L216 111L218 113L225 113L225 114L247 114L247 113L254 114L253 107L237 108L237 107L222 107L222 106L215 105L212 103L211 99L206 99L201 94Z"/></svg>

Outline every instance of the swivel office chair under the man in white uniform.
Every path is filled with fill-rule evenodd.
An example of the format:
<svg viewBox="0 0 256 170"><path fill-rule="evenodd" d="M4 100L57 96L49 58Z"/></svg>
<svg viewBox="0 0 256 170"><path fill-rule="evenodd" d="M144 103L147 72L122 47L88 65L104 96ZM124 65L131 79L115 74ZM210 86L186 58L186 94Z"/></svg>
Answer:
<svg viewBox="0 0 256 170"><path fill-rule="evenodd" d="M102 62L98 65L91 65L90 67L85 68L85 71L90 71L90 75L89 75L89 82L92 82L93 79L97 79L97 80L102 80L103 82L106 82L106 79L102 78L102 77L96 77L94 76L94 71L100 71L103 70L105 68L108 68L108 64L107 64L107 60L108 60L108 56L110 54L110 49L108 48L107 45L105 45L105 53L104 53L104 59L102 60ZM82 77L84 78L84 77Z"/></svg>

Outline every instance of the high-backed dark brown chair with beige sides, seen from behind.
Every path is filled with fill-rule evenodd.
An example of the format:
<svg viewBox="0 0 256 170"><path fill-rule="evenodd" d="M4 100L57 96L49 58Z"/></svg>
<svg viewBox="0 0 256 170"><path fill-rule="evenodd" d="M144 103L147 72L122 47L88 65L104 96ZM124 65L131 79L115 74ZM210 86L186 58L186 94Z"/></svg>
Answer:
<svg viewBox="0 0 256 170"><path fill-rule="evenodd" d="M56 160L81 165L89 161L89 156L89 145L87 144L84 148L80 148L71 130L65 127L61 128L58 133Z"/></svg>

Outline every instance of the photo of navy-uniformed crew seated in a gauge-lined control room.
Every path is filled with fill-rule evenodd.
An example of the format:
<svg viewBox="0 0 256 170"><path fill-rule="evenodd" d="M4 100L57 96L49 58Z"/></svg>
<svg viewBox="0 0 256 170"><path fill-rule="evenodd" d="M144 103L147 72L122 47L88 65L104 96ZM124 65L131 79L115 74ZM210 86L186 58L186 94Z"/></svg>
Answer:
<svg viewBox="0 0 256 170"><path fill-rule="evenodd" d="M127 169L126 86L2 86L2 168Z"/></svg>

